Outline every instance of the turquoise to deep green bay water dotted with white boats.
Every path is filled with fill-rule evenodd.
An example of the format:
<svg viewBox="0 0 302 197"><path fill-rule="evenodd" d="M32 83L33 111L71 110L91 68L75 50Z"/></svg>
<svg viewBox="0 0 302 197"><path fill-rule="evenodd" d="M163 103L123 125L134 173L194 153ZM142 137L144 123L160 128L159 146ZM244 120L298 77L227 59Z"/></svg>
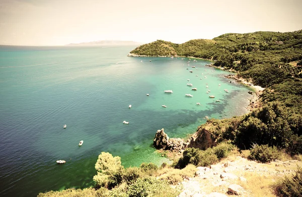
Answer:
<svg viewBox="0 0 302 197"><path fill-rule="evenodd" d="M168 159L152 146L158 129L184 138L205 116L247 113L249 89L228 72L199 59L127 57L133 48L0 47L0 195L92 185L103 151L125 167L160 165Z"/></svg>

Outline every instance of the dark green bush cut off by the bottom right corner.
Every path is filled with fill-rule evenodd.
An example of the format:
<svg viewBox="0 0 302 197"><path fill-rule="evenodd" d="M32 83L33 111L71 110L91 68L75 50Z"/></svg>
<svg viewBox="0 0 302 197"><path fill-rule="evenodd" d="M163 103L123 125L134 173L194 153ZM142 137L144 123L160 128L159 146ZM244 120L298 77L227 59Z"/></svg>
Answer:
<svg viewBox="0 0 302 197"><path fill-rule="evenodd" d="M277 183L275 188L277 196L302 196L302 168L298 167L295 174Z"/></svg>

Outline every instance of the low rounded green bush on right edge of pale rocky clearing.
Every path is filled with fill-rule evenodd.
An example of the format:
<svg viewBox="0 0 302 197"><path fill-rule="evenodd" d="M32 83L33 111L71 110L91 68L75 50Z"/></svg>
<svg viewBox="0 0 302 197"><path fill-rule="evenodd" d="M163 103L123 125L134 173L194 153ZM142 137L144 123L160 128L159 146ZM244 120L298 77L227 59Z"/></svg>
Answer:
<svg viewBox="0 0 302 197"><path fill-rule="evenodd" d="M262 163L270 162L278 158L278 150L276 147L269 147L268 145L254 144L251 148L250 159L257 160Z"/></svg>

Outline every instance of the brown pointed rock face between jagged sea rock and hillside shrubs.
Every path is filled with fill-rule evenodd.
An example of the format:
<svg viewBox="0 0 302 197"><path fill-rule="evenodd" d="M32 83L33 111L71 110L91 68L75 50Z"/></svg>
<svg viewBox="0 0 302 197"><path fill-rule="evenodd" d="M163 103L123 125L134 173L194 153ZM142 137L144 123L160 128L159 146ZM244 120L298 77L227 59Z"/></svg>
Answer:
<svg viewBox="0 0 302 197"><path fill-rule="evenodd" d="M206 150L207 148L216 146L216 144L216 138L212 134L210 134L205 128L199 128L191 137L188 147Z"/></svg>

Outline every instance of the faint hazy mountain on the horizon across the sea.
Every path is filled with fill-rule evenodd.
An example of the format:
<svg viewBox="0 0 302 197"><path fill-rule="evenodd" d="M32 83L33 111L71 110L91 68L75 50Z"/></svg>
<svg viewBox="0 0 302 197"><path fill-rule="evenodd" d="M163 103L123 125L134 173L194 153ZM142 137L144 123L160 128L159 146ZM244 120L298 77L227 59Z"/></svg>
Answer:
<svg viewBox="0 0 302 197"><path fill-rule="evenodd" d="M141 45L142 43L133 41L121 40L99 40L93 42L70 43L65 46L126 46L126 45Z"/></svg>

